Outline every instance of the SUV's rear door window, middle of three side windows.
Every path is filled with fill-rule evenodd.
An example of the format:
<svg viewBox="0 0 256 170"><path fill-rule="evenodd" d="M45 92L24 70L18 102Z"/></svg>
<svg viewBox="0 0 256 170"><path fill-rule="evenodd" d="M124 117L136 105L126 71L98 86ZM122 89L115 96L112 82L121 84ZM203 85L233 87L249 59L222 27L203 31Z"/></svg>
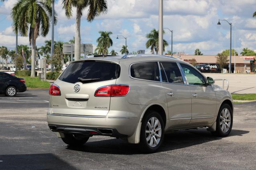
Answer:
<svg viewBox="0 0 256 170"><path fill-rule="evenodd" d="M163 82L165 82L167 77L169 83L184 84L180 69L176 63L163 62L161 65L164 68L164 74L161 71Z"/></svg>

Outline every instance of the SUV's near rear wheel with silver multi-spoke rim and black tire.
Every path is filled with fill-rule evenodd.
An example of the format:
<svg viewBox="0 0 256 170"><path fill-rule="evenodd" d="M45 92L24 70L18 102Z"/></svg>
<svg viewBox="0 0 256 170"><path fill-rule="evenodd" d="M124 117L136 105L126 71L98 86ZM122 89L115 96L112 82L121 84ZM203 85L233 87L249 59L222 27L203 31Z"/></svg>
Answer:
<svg viewBox="0 0 256 170"><path fill-rule="evenodd" d="M156 123L158 121L158 123ZM152 123L154 124L152 127ZM164 140L164 121L161 115L150 110L142 119L140 129L140 149L142 152L153 153L159 149Z"/></svg>

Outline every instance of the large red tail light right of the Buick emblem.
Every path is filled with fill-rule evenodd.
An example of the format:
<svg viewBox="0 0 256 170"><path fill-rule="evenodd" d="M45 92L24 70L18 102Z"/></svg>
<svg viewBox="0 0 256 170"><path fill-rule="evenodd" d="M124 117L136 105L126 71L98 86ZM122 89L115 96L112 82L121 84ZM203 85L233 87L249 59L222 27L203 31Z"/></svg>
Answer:
<svg viewBox="0 0 256 170"><path fill-rule="evenodd" d="M128 94L129 90L130 86L128 85L109 85L98 88L94 96L125 96Z"/></svg>

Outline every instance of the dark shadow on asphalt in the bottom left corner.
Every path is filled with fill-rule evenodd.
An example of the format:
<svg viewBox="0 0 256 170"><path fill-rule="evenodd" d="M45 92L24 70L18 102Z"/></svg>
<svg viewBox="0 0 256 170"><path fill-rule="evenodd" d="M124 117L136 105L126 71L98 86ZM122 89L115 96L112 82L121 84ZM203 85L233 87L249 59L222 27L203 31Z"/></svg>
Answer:
<svg viewBox="0 0 256 170"><path fill-rule="evenodd" d="M46 154L10 154L0 155L1 170L31 170L31 169L76 169L58 156Z"/></svg>

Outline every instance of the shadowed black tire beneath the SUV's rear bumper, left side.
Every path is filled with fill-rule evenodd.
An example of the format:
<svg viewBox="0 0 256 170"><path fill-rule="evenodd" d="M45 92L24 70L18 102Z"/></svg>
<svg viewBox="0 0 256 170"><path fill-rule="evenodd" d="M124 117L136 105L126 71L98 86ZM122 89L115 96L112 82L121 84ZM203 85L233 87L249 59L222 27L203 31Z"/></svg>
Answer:
<svg viewBox="0 0 256 170"><path fill-rule="evenodd" d="M89 136L84 135L73 135L73 134L66 134L64 133L64 137L62 137L62 141L70 146L81 146L84 145L88 139Z"/></svg>

